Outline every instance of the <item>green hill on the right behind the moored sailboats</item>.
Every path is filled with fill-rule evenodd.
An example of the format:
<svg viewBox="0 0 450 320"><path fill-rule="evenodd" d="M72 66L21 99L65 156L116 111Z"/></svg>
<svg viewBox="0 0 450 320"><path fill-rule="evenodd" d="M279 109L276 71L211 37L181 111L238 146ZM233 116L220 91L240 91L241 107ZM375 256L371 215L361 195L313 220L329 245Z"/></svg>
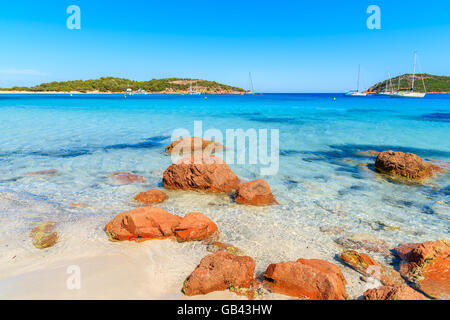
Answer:
<svg viewBox="0 0 450 320"><path fill-rule="evenodd" d="M400 79L400 85L399 85ZM416 80L414 82L414 92L424 92L423 83L425 82L426 92L442 92L450 93L450 77L446 76L434 76L431 74L416 74ZM412 74L404 74L392 79L387 79L370 87L370 92L383 92L391 91L391 83L394 91L409 90L412 84Z"/></svg>

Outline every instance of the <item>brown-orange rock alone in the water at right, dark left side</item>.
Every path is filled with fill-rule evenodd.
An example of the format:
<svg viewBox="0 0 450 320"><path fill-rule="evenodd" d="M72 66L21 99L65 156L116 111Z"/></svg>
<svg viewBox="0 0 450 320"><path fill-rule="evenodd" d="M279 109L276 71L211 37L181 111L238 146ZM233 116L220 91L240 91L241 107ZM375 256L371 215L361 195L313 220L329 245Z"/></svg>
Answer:
<svg viewBox="0 0 450 320"><path fill-rule="evenodd" d="M423 161L413 153L383 151L375 161L375 169L392 176L412 180L425 180L440 170L438 166Z"/></svg>

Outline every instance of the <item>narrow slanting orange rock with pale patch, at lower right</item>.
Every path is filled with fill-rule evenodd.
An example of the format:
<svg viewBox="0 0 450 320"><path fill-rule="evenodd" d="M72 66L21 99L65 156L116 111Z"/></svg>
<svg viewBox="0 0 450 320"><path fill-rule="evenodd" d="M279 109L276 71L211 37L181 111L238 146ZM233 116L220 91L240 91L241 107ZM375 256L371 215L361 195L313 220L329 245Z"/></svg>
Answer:
<svg viewBox="0 0 450 320"><path fill-rule="evenodd" d="M404 284L401 275L394 269L381 265L365 253L354 250L345 250L339 258L347 265L369 277L374 277L384 285Z"/></svg>

